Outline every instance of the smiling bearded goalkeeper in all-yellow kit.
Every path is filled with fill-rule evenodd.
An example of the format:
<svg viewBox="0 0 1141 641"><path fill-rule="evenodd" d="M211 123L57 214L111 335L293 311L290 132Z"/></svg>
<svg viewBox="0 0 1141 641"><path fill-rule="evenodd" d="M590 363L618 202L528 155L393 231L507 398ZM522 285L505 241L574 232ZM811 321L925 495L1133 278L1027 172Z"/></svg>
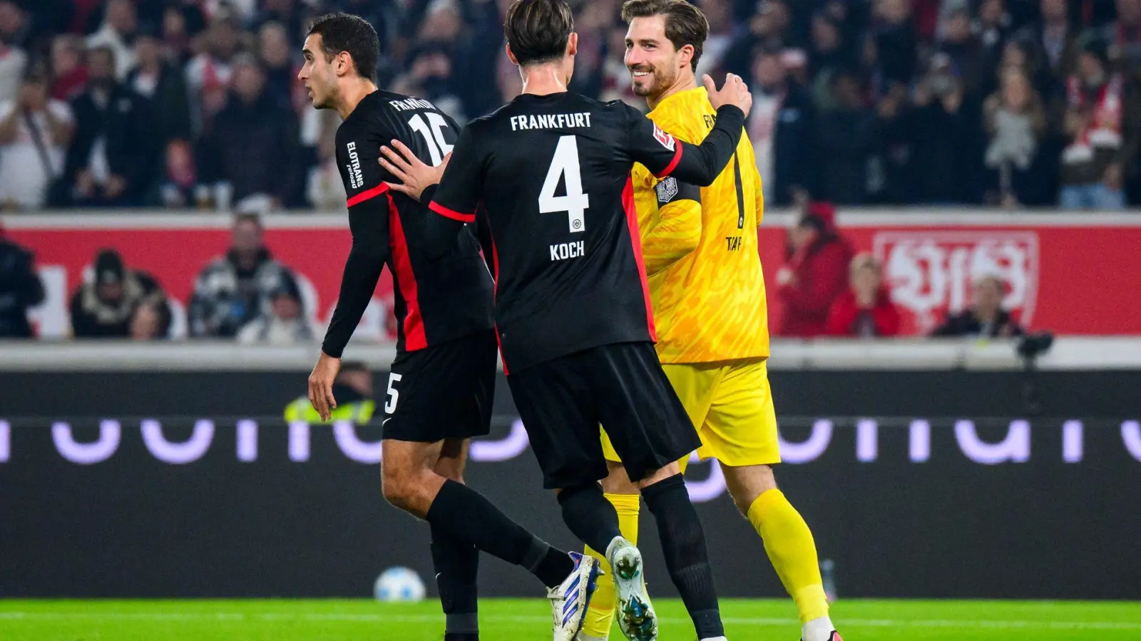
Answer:
<svg viewBox="0 0 1141 641"><path fill-rule="evenodd" d="M630 25L626 67L634 92L653 109L649 117L678 138L699 143L715 117L694 79L709 35L705 16L685 0L628 0L622 18ZM705 188L658 180L641 165L634 165L632 179L657 355L702 437L697 454L721 463L737 509L756 528L800 610L803 641L840 641L812 533L777 489L770 466L780 453L766 368L768 314L756 253L763 198L753 147L742 137L734 160ZM612 461L602 487L617 509L622 535L636 541L638 490L605 433L602 439ZM599 578L578 640L606 639L613 611L607 575Z"/></svg>

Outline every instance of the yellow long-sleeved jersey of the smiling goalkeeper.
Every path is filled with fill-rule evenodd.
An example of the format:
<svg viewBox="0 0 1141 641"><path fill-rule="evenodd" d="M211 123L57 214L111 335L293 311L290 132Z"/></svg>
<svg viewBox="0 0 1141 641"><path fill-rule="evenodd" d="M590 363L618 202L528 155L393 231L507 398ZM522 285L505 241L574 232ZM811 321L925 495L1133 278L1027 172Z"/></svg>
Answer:
<svg viewBox="0 0 1141 641"><path fill-rule="evenodd" d="M713 129L717 112L705 88L698 87L666 97L649 117L678 138L699 144ZM756 253L764 202L748 137L741 137L717 180L701 188L701 204L670 202L679 190L670 180L658 180L640 164L632 172L658 358L710 363L767 357L768 307ZM697 249L686 253L694 241Z"/></svg>

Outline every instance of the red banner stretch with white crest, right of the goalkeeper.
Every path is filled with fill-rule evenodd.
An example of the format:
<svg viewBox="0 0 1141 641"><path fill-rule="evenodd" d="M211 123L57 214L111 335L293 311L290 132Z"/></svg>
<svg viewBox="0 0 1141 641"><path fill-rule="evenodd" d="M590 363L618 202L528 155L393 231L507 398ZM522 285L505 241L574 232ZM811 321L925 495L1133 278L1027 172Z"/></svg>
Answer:
<svg viewBox="0 0 1141 641"><path fill-rule="evenodd" d="M1141 221L1117 217L1120 225L1104 225L1093 216L1027 214L1033 222L987 225L958 222L956 216L875 214L875 224L866 220L872 216L841 218L841 233L856 250L873 252L883 263L903 314L901 333L929 333L948 311L970 305L976 279L993 275L1006 285L1004 307L1027 328L1141 334ZM762 227L759 238L767 285L775 292L785 234ZM779 306L770 295L770 319L779 318Z"/></svg>

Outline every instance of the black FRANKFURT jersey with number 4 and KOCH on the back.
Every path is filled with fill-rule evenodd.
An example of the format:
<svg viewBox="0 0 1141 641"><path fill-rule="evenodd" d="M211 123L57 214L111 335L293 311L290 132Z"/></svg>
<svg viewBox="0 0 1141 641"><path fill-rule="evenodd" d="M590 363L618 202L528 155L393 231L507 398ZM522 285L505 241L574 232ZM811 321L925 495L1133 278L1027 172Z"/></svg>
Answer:
<svg viewBox="0 0 1141 641"><path fill-rule="evenodd" d="M486 209L509 370L655 340L630 170L709 185L743 123L722 107L698 147L624 103L560 92L524 94L463 130L429 208L464 222Z"/></svg>

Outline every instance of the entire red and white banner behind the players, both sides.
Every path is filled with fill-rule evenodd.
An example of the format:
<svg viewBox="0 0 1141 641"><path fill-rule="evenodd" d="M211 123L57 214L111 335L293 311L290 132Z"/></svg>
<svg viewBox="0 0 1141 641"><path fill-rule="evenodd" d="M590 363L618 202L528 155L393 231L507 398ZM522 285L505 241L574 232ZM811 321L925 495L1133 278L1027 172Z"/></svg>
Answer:
<svg viewBox="0 0 1141 641"><path fill-rule="evenodd" d="M1059 334L1141 334L1141 221L1115 217L994 214L849 214L842 233L858 251L884 265L892 299L904 313L904 333L926 333L947 311L970 305L971 283L996 275L1006 283L1006 308L1034 330ZM971 222L964 222L970 220ZM1014 222L1011 222L1011 221ZM1026 220L1026 222L1022 222ZM1084 222L1089 220L1090 222ZM154 275L173 299L176 335L185 335L185 306L194 279L229 244L228 219L216 216L8 217L6 234L32 249L48 286L48 301L33 311L43 336L68 334L67 303L95 254L114 248L127 265ZM785 233L761 227L761 261L770 292L784 262ZM337 303L349 251L342 217L273 217L266 244L300 277L306 309L327 323ZM390 339L391 279L386 274L358 334ZM769 297L769 318L779 300ZM774 331L777 327L772 327Z"/></svg>

